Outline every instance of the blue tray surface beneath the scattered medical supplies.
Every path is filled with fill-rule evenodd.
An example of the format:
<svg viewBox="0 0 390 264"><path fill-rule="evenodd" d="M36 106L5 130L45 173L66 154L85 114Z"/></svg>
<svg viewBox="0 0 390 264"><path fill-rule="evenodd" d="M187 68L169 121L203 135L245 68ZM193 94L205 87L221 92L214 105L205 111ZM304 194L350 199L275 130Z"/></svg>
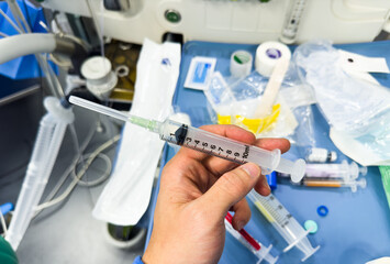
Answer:
<svg viewBox="0 0 390 264"><path fill-rule="evenodd" d="M359 44L335 45L336 47L366 56L386 57L390 65L390 42L374 42ZM182 47L180 76L177 85L174 105L191 117L192 124L199 127L211 123L208 114L207 99L202 91L185 89L183 84L193 56L216 57L215 70L223 76L230 75L230 57L236 50L246 50L255 56L257 45L221 44L205 42L188 42ZM375 74L379 82L390 87L390 76ZM315 120L315 140L319 145L336 150L328 138L328 125L316 107L313 107ZM165 147L164 161L175 154L169 146ZM339 152L338 160L348 160ZM164 165L163 164L163 165ZM367 261L390 255L390 210L381 184L378 167L369 167L367 188L352 193L349 188L305 188L291 186L288 183L278 185L274 195L303 226L305 220L314 220L319 224L315 234L309 234L312 245L321 249L305 263L365 263ZM156 204L158 187L152 200L152 209ZM316 212L319 206L328 208L326 217ZM265 246L272 244L272 255L279 255L278 263L300 263L303 257L298 249L287 253L285 240L271 227L263 215L252 206L252 220L246 230ZM152 210L153 211L153 210ZM146 245L151 237L153 216L151 217ZM179 238L178 238L179 239ZM220 263L256 263L257 258L239 242L226 234L225 248ZM266 263L266 262L264 262Z"/></svg>

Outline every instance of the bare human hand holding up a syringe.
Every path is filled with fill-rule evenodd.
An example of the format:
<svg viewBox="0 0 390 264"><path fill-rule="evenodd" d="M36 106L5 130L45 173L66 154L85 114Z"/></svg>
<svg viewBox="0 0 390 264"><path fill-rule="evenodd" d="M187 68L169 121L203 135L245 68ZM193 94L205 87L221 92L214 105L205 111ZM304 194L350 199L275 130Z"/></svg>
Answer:
<svg viewBox="0 0 390 264"><path fill-rule="evenodd" d="M256 140L235 125L205 125L201 129L266 150L286 152L285 139ZM222 255L229 210L233 228L241 230L250 219L245 196L253 189L270 194L266 177L253 163L237 165L187 147L164 167L146 264L218 263Z"/></svg>

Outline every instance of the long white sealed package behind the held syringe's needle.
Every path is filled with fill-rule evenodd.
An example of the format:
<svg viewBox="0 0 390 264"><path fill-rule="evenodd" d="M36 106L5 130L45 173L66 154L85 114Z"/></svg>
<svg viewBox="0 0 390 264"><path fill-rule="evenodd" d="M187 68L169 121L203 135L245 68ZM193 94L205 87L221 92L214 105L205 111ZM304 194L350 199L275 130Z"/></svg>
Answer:
<svg viewBox="0 0 390 264"><path fill-rule="evenodd" d="M179 66L179 44L145 40L137 63L131 113L155 120L167 118ZM113 174L93 208L93 217L118 226L134 226L140 221L149 205L163 146L156 134L125 124Z"/></svg>

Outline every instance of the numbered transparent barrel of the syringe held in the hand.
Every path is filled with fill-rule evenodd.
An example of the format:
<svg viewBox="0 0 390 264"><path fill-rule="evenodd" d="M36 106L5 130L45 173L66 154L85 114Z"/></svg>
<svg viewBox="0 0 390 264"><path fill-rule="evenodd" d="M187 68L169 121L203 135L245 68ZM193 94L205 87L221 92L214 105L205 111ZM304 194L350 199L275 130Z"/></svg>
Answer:
<svg viewBox="0 0 390 264"><path fill-rule="evenodd" d="M280 161L280 150L263 150L172 120L166 120L160 125L159 135L167 142L239 164L252 162L274 170Z"/></svg>

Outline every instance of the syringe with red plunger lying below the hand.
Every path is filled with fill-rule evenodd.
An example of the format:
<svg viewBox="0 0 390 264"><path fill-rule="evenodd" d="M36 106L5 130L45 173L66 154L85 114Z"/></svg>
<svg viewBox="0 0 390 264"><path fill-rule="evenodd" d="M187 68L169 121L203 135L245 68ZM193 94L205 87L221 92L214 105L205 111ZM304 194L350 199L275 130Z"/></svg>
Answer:
<svg viewBox="0 0 390 264"><path fill-rule="evenodd" d="M243 245L245 245L252 253L254 253L257 257L257 264L259 264L263 260L267 261L270 264L277 262L278 256L272 256L269 251L272 245L265 248L260 242L256 241L245 229L236 231L232 227L233 217L230 212L227 212L225 217L225 227L226 231L233 235L236 240L238 240Z"/></svg>

